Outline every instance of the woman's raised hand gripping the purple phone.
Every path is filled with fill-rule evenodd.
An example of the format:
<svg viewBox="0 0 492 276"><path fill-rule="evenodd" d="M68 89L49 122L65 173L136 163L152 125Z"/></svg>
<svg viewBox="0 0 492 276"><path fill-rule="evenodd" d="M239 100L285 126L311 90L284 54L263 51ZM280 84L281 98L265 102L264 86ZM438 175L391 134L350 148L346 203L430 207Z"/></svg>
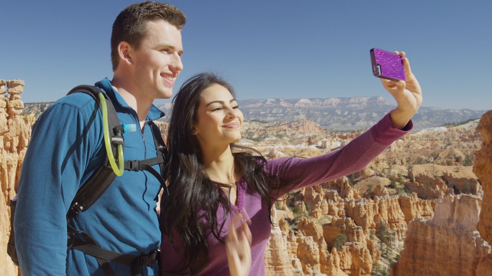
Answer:
<svg viewBox="0 0 492 276"><path fill-rule="evenodd" d="M405 52L394 52L403 58L403 68L405 69L405 81L390 81L381 79L383 86L395 98L398 107L390 114L394 128L402 129L419 110L422 104L422 90L417 79L412 74L408 58L404 57Z"/></svg>

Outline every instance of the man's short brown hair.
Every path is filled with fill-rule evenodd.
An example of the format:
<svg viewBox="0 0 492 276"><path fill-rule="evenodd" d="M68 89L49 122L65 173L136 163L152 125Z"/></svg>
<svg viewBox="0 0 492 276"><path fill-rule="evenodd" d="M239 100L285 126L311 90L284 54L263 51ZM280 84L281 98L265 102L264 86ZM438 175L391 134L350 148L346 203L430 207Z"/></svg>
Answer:
<svg viewBox="0 0 492 276"><path fill-rule="evenodd" d="M186 23L186 16L177 7L167 3L145 1L124 8L116 17L111 33L113 71L116 71L120 61L118 44L126 41L132 47L138 48L147 34L147 22L154 20L167 21L181 30Z"/></svg>

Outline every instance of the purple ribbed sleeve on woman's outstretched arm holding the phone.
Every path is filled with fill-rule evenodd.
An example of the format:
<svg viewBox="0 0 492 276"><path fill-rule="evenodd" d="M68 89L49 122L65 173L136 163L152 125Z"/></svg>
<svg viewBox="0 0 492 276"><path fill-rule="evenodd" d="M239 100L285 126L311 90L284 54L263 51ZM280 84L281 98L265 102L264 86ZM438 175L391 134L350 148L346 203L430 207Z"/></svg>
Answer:
<svg viewBox="0 0 492 276"><path fill-rule="evenodd" d="M306 159L284 157L267 161L264 167L267 174L280 178L272 184L271 196L278 199L293 190L334 180L368 166L391 143L413 128L411 120L402 130L393 128L390 113L336 151Z"/></svg>

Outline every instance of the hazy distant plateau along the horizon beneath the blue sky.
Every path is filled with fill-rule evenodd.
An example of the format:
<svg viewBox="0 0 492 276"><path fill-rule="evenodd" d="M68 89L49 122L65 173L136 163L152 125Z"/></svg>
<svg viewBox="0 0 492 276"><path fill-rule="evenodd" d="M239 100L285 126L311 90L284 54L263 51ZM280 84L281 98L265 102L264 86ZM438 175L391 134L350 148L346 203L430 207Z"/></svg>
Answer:
<svg viewBox="0 0 492 276"><path fill-rule="evenodd" d="M38 116L51 103L26 103L25 114ZM374 125L386 112L395 108L380 96L345 97L328 99L260 99L241 100L241 110L246 121L290 123L310 119L321 128L351 131ZM171 114L171 104L157 104L166 114ZM415 114L415 130L431 128L445 123L457 123L479 118L484 110L448 110L421 107ZM170 116L162 120L169 121Z"/></svg>

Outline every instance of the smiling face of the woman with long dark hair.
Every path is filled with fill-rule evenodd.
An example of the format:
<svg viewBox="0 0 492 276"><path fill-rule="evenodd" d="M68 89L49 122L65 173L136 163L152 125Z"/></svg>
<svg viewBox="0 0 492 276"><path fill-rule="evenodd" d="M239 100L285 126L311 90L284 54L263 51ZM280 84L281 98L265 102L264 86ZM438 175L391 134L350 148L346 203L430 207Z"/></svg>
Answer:
<svg viewBox="0 0 492 276"><path fill-rule="evenodd" d="M202 91L193 134L201 146L229 144L241 139L243 113L238 102L222 85L212 84Z"/></svg>

